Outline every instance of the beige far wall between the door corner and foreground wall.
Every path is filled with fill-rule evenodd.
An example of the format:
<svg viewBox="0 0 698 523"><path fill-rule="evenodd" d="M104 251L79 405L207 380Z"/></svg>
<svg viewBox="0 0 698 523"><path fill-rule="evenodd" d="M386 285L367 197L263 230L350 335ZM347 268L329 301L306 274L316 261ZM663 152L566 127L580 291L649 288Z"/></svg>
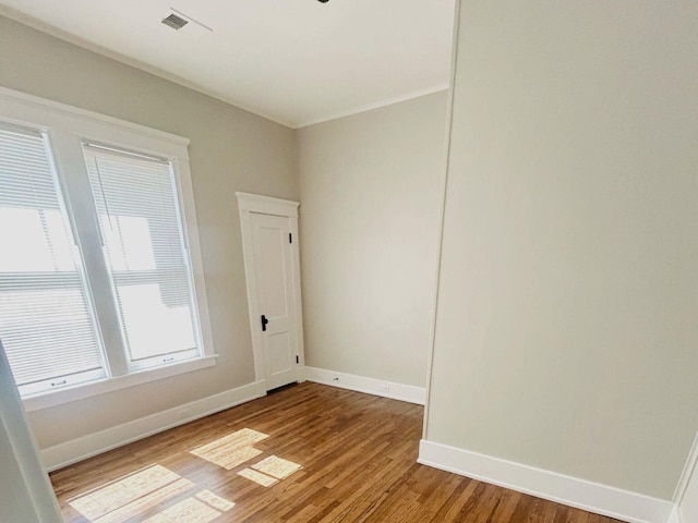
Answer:
<svg viewBox="0 0 698 523"><path fill-rule="evenodd" d="M298 132L306 365L424 386L446 93Z"/></svg>

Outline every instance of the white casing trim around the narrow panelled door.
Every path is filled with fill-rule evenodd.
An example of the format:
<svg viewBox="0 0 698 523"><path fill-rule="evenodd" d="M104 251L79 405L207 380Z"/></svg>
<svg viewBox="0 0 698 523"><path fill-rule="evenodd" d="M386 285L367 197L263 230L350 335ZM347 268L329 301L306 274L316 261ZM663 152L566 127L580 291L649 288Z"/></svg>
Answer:
<svg viewBox="0 0 698 523"><path fill-rule="evenodd" d="M289 229L293 241L291 242L291 265L293 296L291 304L296 316L296 346L298 348L299 363L296 366L296 378L304 381L303 368L305 356L303 349L303 311L301 305L301 266L300 248L298 242L298 207L299 202L273 198L258 194L236 192L238 197L238 210L240 211L240 230L242 233L242 254L244 258L244 279L248 289L248 308L250 311L250 333L252 336L252 353L254 356L254 379L260 384L260 393L266 393L266 373L264 361L264 345L262 329L260 328L260 303L257 299L256 268L254 264L254 248L252 240L251 214L274 215L288 218Z"/></svg>

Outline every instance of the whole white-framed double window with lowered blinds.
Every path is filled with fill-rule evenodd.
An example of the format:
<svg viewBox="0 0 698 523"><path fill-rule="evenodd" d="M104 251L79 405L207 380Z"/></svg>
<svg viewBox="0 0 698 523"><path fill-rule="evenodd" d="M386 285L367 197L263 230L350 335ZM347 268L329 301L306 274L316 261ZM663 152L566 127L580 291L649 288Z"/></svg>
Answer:
<svg viewBox="0 0 698 523"><path fill-rule="evenodd" d="M0 339L29 410L214 364L186 143L0 88Z"/></svg>

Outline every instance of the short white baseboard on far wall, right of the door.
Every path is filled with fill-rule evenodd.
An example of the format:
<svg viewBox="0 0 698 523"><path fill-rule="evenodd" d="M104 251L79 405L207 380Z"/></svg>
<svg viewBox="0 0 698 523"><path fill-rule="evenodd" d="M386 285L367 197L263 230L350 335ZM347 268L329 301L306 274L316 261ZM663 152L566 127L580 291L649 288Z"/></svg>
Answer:
<svg viewBox="0 0 698 523"><path fill-rule="evenodd" d="M356 390L369 394L382 396L393 400L407 401L423 405L426 400L426 389L412 385L396 384L382 379L365 378L353 374L336 373L324 368L305 367L305 379L315 384L330 385L340 389Z"/></svg>

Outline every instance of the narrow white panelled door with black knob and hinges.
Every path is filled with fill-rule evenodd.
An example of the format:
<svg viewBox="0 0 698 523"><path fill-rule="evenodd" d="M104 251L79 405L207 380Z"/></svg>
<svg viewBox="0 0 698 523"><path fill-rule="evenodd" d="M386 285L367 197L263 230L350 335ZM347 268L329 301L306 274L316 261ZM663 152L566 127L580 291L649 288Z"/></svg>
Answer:
<svg viewBox="0 0 698 523"><path fill-rule="evenodd" d="M290 219L250 214L254 278L267 390L298 381L297 312Z"/></svg>

